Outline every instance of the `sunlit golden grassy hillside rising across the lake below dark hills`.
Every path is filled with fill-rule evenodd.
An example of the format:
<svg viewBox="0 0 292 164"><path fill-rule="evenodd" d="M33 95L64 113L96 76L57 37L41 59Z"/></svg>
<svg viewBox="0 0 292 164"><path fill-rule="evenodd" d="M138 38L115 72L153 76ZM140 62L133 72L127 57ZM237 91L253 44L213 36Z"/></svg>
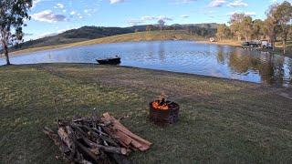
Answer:
<svg viewBox="0 0 292 164"><path fill-rule="evenodd" d="M130 33L118 36L102 37L89 41L77 42L72 44L58 45L58 46L42 46L36 48L28 48L13 52L12 55L47 50L56 48L66 48L72 46L87 46L95 44L109 44L118 42L139 42L139 41L152 41L152 40L203 40L203 37L193 36L186 31L150 31L150 32L138 32Z"/></svg>

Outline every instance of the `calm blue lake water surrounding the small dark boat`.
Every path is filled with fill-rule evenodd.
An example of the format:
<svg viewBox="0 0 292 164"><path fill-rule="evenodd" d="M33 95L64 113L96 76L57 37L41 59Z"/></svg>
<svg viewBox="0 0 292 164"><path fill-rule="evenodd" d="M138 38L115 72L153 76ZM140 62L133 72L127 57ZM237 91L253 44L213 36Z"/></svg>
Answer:
<svg viewBox="0 0 292 164"><path fill-rule="evenodd" d="M192 41L151 41L77 46L11 57L12 64L96 63L119 55L121 66L183 72L290 87L292 59L232 46ZM4 65L4 58L0 65Z"/></svg>

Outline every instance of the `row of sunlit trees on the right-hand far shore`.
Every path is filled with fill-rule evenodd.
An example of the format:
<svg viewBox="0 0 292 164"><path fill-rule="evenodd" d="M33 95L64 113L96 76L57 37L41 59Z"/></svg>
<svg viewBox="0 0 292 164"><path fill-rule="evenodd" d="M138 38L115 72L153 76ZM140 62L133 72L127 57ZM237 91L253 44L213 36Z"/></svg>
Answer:
<svg viewBox="0 0 292 164"><path fill-rule="evenodd" d="M292 5L284 1L282 4L270 5L266 10L266 19L255 19L250 15L235 13L231 15L229 26L219 25L216 37L218 40L266 39L275 49L276 40L281 40L286 53L287 40L292 37Z"/></svg>

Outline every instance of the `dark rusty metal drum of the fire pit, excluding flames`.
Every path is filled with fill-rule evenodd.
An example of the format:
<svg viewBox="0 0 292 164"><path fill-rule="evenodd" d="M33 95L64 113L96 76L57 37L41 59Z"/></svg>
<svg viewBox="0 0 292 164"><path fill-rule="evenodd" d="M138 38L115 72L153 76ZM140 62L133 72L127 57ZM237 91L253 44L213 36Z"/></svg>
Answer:
<svg viewBox="0 0 292 164"><path fill-rule="evenodd" d="M169 104L169 109L160 110L153 108L152 103L153 102L149 104L150 118L154 122L154 124L166 126L172 125L178 121L180 111L180 106L178 104L171 101L167 101L167 104Z"/></svg>

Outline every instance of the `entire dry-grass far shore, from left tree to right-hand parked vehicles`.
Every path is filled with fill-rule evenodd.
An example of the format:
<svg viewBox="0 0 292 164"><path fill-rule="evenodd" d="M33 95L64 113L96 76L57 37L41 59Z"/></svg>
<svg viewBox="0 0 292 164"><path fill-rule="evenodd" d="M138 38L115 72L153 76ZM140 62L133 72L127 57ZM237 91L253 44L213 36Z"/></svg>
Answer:
<svg viewBox="0 0 292 164"><path fill-rule="evenodd" d="M17 50L10 53L10 56L16 56L31 52L44 51L50 49L58 49L58 48L68 48L73 46L89 46L96 44L110 44L110 43L120 43L120 42L140 42L140 41L158 41L158 40L189 40L195 41L197 43L203 44L213 44L220 46L235 46L241 47L241 43L235 40L223 40L220 42L210 42L208 38L204 38L202 36L193 36L189 33L181 30L181 31L151 31L151 32L138 32L138 33L130 33L118 36L108 36L102 37L98 39L92 39L89 41L76 42L71 44L63 44L56 46L41 46L41 47L32 47L26 48L22 50ZM291 45L287 45L287 54L283 54L283 47L276 43L276 50L269 50L268 52L271 54L281 55L281 56L289 56L292 57ZM0 57L4 57L1 55Z"/></svg>

